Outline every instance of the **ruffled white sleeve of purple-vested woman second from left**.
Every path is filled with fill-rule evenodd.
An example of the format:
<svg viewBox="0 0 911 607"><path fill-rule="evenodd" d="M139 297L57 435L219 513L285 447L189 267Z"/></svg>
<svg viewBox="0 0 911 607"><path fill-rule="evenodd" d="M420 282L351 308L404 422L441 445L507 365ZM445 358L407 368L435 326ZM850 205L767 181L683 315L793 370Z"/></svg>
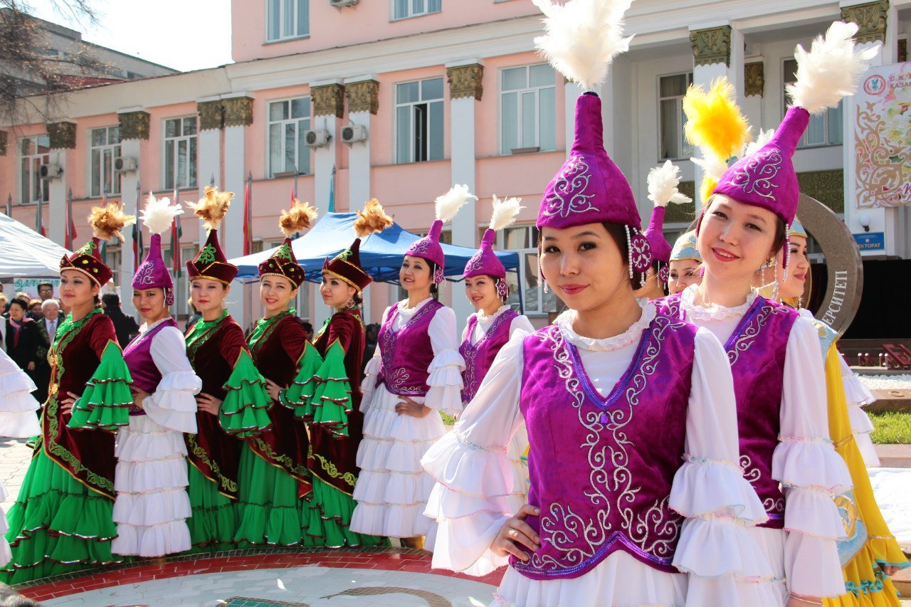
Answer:
<svg viewBox="0 0 911 607"><path fill-rule="evenodd" d="M152 360L161 381L155 393L142 403L146 415L169 430L196 434L196 398L202 380L189 365L187 344L179 329L168 326L152 338Z"/></svg>

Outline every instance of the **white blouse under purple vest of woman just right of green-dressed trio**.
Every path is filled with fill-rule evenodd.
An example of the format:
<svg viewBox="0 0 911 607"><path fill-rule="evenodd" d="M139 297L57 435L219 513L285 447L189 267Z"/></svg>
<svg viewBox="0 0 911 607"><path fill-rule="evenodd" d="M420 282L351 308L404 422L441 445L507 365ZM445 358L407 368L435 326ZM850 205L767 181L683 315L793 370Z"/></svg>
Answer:
<svg viewBox="0 0 911 607"><path fill-rule="evenodd" d="M398 304L398 314L395 316L392 329L398 331L404 324L414 318L417 311L432 301L428 297L413 308L407 307L408 300ZM383 313L383 324L389 317L393 306L386 308ZM430 336L430 345L434 350L434 360L427 367L427 396L423 399L415 397L415 402L423 403L432 409L444 411L449 415L456 415L462 411L462 370L465 369L465 360L458 353L458 342L455 341L455 312L452 308L443 306L438 309L427 327ZM370 408L370 401L374 396L376 376L383 366L383 351L379 342L376 344L373 358L364 369L364 380L361 385L363 397L361 411L366 413Z"/></svg>

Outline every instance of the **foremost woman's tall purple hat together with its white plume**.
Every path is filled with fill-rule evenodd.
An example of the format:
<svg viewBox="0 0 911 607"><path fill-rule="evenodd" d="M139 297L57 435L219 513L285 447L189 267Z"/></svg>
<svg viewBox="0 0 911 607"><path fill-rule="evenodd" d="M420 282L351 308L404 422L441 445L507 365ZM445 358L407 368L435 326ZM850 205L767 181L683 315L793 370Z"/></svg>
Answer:
<svg viewBox="0 0 911 607"><path fill-rule="evenodd" d="M630 48L623 15L631 0L533 0L544 13L538 52L585 93L576 101L569 158L550 181L537 212L537 228L565 229L586 223L617 223L627 231L630 275L650 265L649 242L630 183L604 149L601 100L596 90L610 64ZM547 286L545 287L547 288Z"/></svg>

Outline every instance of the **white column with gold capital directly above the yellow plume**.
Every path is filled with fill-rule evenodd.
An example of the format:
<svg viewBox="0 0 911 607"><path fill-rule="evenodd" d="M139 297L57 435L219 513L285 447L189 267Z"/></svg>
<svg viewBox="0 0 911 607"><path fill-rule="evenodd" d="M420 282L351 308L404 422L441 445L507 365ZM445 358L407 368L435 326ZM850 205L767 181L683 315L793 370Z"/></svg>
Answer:
<svg viewBox="0 0 911 607"><path fill-rule="evenodd" d="M705 90L719 77L727 77L738 99L743 99L743 34L731 22L716 22L690 27L693 43L692 83ZM702 170L694 167L696 191ZM697 196L698 198L698 196ZM701 201L696 201L699 205ZM698 206L697 206L698 209Z"/></svg>

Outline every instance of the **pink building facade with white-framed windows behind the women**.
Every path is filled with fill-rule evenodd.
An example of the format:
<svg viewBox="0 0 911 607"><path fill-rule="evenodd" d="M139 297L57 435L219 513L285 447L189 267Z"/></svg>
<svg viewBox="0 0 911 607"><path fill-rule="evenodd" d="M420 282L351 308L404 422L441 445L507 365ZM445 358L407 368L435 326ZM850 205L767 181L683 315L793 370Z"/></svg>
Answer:
<svg viewBox="0 0 911 607"><path fill-rule="evenodd" d="M479 201L459 214L447 238L476 246L492 196L521 197L526 209L500 246L520 252L514 291L520 285L527 314L536 324L546 323L556 302L537 285L533 224L541 192L566 157L571 108L580 91L534 52L541 28L534 5L236 0L231 17L230 65L81 89L47 106L44 98L24 103L26 118L0 126L0 208L8 199L15 219L36 225L41 201L43 227L64 243L72 191L78 246L89 236L89 208L106 191L131 210L138 192L169 196L176 186L179 199L189 201L214 181L237 192L222 231L226 252L236 257L243 252L248 174L254 251L281 242L278 216L295 187L299 199L322 212L331 202L334 211L353 211L376 198L405 229L424 232L435 197L453 183L467 183ZM882 43L884 64L906 53L911 0L634 3L627 20L636 36L630 53L599 93L606 146L628 175L645 221L645 176L652 166L674 159L684 180L699 179L681 137L686 86L707 86L726 75L753 126L773 128L783 115L793 47L807 46L838 18L858 21L865 41ZM834 208L843 201L836 211L857 231L851 180L844 177L851 149L848 113L820 118L795 165L816 184L817 198L827 196ZM343 142L346 127L353 127L353 141ZM325 143L309 147L308 131ZM124 170L115 170L118 158ZM62 172L36 178L42 164ZM670 217L669 238L686 228L692 211ZM894 254L905 255L911 229L904 210L882 210L871 221L885 231L896 225L890 242ZM179 247L188 259L200 242L200 226L185 217L182 227ZM131 251L129 235L128 242L108 249L118 283L128 284ZM379 322L396 290L387 284L370 288L368 321ZM313 285L302 289L299 304L299 313L314 324L329 312L316 295ZM471 312L460 283L448 283L444 297L459 316ZM235 285L229 299L244 324L260 314L250 285Z"/></svg>

